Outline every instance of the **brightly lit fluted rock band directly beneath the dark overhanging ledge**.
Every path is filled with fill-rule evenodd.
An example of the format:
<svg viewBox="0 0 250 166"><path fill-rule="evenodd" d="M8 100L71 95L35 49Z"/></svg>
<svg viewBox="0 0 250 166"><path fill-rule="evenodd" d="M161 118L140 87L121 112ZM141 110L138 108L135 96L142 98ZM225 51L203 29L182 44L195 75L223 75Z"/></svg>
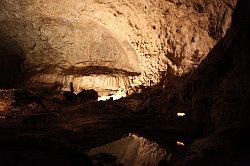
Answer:
<svg viewBox="0 0 250 166"><path fill-rule="evenodd" d="M46 74L36 75L31 78L32 82L44 82L53 84L60 82L63 85L63 90L70 89L70 83L73 84L75 92L80 92L83 89L95 89L100 96L114 94L119 88L130 87L133 85L133 76L112 76L112 75L89 75L89 76L73 76L73 75L58 75Z"/></svg>

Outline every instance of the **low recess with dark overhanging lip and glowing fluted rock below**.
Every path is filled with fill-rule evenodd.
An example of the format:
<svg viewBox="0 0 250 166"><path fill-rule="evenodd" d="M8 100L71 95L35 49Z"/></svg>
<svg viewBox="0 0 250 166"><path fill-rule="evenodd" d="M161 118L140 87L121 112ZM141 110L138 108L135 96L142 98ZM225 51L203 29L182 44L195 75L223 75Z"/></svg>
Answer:
<svg viewBox="0 0 250 166"><path fill-rule="evenodd" d="M84 89L94 89L100 97L116 98L118 96L125 97L132 93L134 86L136 86L134 79L138 76L140 73L105 66L72 67L47 73L40 71L30 77L26 86L59 84L64 91L79 93Z"/></svg>

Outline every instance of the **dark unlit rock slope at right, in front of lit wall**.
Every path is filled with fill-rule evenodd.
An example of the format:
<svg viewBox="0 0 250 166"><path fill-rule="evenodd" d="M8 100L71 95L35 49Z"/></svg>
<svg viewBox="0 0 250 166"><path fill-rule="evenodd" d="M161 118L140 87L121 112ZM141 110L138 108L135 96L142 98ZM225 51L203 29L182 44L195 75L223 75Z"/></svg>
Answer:
<svg viewBox="0 0 250 166"><path fill-rule="evenodd" d="M169 80L155 109L184 112L203 133L249 121L249 2L239 1L226 36L192 73ZM156 106L157 105L157 106ZM192 124L192 125L191 125Z"/></svg>

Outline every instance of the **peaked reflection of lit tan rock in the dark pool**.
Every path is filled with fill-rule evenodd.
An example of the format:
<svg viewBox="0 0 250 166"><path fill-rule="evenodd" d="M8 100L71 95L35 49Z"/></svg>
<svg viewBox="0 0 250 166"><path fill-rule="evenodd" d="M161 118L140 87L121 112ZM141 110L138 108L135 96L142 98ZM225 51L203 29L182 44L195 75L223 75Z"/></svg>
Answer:
<svg viewBox="0 0 250 166"><path fill-rule="evenodd" d="M116 160L118 165L123 166L157 166L166 158L167 151L146 138L129 134L118 141L91 149L89 155L93 156L95 163L103 160L105 165L109 158L112 160L107 165L116 165Z"/></svg>

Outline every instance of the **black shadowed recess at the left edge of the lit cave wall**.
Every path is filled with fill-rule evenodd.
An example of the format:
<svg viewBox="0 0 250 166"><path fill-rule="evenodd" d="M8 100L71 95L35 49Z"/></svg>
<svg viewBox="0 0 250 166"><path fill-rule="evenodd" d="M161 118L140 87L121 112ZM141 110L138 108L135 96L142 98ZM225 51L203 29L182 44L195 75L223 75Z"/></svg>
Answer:
<svg viewBox="0 0 250 166"><path fill-rule="evenodd" d="M24 52L1 32L0 40L0 88L20 87L24 81Z"/></svg>

